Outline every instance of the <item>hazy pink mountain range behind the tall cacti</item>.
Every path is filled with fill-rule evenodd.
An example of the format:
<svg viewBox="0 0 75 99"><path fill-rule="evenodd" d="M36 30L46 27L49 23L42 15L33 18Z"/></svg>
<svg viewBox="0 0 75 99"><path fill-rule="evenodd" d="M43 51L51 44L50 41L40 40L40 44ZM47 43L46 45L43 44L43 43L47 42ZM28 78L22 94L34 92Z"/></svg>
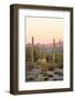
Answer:
<svg viewBox="0 0 75 99"><path fill-rule="evenodd" d="M32 44L28 43L28 44L25 44L25 46L32 47ZM44 51L46 53L53 52L53 43L50 43L50 44L36 43L36 44L34 44L34 47L38 47L40 51ZM63 42L61 42L61 45L60 45L60 42L55 43L55 51L56 52L63 52Z"/></svg>

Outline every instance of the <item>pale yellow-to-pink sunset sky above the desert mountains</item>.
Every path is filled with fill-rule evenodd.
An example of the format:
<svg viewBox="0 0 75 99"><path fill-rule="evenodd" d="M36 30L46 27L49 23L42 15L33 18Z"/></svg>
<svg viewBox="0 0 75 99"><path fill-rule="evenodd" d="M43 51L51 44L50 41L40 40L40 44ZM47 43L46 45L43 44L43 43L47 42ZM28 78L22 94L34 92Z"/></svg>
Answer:
<svg viewBox="0 0 75 99"><path fill-rule="evenodd" d="M56 42L63 41L63 19L57 18L25 18L26 43L31 43L32 36L34 44L50 44L55 38Z"/></svg>

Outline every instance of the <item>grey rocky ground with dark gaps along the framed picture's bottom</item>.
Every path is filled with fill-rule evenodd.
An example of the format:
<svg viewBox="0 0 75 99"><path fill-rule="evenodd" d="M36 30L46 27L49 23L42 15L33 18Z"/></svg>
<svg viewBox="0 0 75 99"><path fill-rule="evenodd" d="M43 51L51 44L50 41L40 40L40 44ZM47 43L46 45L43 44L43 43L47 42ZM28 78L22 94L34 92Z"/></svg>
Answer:
<svg viewBox="0 0 75 99"><path fill-rule="evenodd" d="M47 69L42 72L41 68L33 67L32 69L26 69L25 81L52 81L52 80L63 80L63 68Z"/></svg>

